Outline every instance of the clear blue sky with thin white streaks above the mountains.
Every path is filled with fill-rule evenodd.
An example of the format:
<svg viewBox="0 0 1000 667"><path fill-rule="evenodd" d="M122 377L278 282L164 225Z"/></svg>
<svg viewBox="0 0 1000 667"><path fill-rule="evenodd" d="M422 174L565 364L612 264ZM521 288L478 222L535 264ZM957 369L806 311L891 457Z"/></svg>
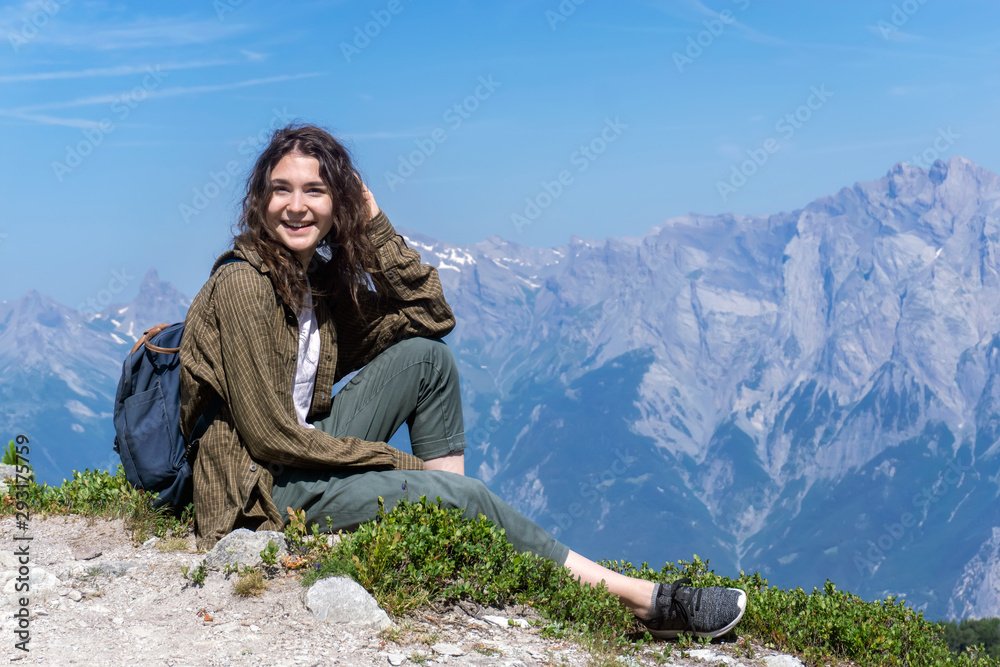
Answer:
<svg viewBox="0 0 1000 667"><path fill-rule="evenodd" d="M456 243L787 211L914 158L1000 171L998 33L987 0L6 3L0 299L128 300L150 267L193 296L289 121Z"/></svg>

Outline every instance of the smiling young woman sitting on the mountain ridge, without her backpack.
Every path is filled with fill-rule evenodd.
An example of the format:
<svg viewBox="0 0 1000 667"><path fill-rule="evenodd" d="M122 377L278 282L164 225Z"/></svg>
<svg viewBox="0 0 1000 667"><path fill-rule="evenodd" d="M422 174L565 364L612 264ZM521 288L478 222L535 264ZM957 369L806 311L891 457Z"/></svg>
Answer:
<svg viewBox="0 0 1000 667"><path fill-rule="evenodd" d="M732 629L743 591L612 572L464 476L458 371L439 340L454 325L436 269L396 233L346 149L316 127L276 131L248 178L233 249L186 320L183 433L222 403L194 460L198 545L240 527L281 530L289 507L338 530L374 518L380 496L387 507L440 497L518 549L604 581L654 635ZM404 422L412 454L386 444Z"/></svg>

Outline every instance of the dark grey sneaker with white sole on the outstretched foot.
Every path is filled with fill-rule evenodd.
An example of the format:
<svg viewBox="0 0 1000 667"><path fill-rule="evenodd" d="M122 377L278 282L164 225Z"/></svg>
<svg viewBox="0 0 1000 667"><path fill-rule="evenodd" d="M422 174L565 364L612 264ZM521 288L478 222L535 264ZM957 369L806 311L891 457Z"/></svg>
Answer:
<svg viewBox="0 0 1000 667"><path fill-rule="evenodd" d="M649 634L673 639L682 632L696 637L719 637L736 627L747 609L747 594L738 588L692 588L690 579L657 584L649 618L642 621Z"/></svg>

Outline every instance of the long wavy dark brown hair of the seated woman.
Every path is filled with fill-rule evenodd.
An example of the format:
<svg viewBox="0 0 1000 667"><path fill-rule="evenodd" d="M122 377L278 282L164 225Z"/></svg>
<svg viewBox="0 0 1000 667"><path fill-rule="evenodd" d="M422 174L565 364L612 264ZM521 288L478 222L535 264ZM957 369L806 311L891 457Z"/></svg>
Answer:
<svg viewBox="0 0 1000 667"><path fill-rule="evenodd" d="M320 266L310 274L310 282L295 255L271 234L266 222L271 172L289 153L316 158L320 177L333 197L333 227L319 243L314 261ZM246 188L234 245L251 248L261 256L278 296L301 312L311 283L313 294L348 298L359 307L358 295L368 285L375 249L365 232L370 214L361 176L343 144L314 125L275 130L247 177Z"/></svg>

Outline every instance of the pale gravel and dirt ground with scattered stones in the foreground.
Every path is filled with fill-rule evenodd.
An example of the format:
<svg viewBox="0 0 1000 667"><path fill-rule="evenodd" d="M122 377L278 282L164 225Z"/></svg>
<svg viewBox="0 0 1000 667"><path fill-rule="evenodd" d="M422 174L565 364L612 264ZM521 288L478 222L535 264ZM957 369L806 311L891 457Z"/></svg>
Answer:
<svg viewBox="0 0 1000 667"><path fill-rule="evenodd" d="M27 582L15 555L24 545ZM181 567L203 558L193 538L179 550L163 546L155 540L134 546L120 521L32 518L23 531L13 517L0 519L0 655L20 665L116 667L613 664L578 643L542 637L519 621L531 618L530 609L425 611L394 619L396 628L382 633L321 622L306 609L305 589L293 574L271 579L261 597L241 598L232 592L235 576L210 572L200 587L182 576ZM25 583L30 590L19 592ZM25 596L26 621L15 617ZM18 630L30 636L28 651L16 645L23 639ZM801 665L761 647L753 647L752 659L737 657L745 651L734 644L683 655L659 643L619 662L661 664L664 652L668 664L677 665Z"/></svg>

